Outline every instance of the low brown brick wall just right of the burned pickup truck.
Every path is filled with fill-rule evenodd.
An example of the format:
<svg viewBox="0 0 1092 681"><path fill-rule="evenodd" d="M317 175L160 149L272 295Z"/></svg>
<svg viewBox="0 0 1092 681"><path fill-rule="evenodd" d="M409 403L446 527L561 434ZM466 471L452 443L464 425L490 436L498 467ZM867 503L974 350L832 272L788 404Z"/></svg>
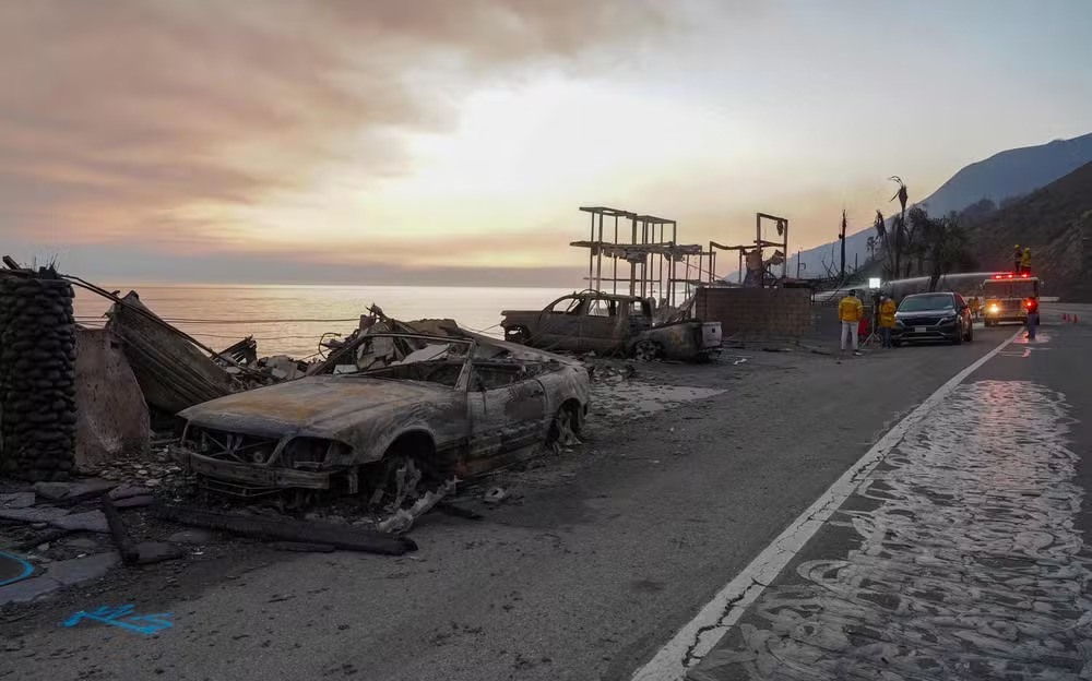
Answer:
<svg viewBox="0 0 1092 681"><path fill-rule="evenodd" d="M724 338L799 339L814 327L811 292L803 288L702 288L695 314L721 322Z"/></svg>

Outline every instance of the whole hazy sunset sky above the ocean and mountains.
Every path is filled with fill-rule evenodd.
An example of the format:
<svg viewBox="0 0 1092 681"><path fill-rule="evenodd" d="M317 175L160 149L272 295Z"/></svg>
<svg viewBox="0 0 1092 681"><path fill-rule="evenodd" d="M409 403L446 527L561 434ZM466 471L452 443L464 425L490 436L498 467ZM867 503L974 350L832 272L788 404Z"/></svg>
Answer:
<svg viewBox="0 0 1092 681"><path fill-rule="evenodd" d="M0 251L100 280L578 284L580 205L829 241L1092 131L1088 0L0 3Z"/></svg>

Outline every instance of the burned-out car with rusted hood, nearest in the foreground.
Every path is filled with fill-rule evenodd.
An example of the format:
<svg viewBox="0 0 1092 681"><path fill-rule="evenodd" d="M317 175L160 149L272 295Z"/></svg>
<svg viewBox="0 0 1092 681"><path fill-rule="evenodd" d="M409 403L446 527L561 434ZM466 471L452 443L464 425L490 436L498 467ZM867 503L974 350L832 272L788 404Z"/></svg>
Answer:
<svg viewBox="0 0 1092 681"><path fill-rule="evenodd" d="M360 353L372 345L407 351L181 411L175 458L236 497L295 490L304 504L340 490L377 503L410 479L435 488L563 443L587 415L587 372L562 357L480 337L373 333Z"/></svg>

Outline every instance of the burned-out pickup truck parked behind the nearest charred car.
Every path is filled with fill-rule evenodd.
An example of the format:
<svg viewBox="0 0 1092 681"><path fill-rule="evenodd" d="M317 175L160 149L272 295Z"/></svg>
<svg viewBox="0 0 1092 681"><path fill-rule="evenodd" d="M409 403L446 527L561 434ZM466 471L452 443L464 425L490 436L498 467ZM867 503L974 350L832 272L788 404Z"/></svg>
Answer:
<svg viewBox="0 0 1092 681"><path fill-rule="evenodd" d="M584 291L543 310L501 312L505 339L544 350L700 361L721 350L721 323L653 323L652 303L636 296Z"/></svg>

